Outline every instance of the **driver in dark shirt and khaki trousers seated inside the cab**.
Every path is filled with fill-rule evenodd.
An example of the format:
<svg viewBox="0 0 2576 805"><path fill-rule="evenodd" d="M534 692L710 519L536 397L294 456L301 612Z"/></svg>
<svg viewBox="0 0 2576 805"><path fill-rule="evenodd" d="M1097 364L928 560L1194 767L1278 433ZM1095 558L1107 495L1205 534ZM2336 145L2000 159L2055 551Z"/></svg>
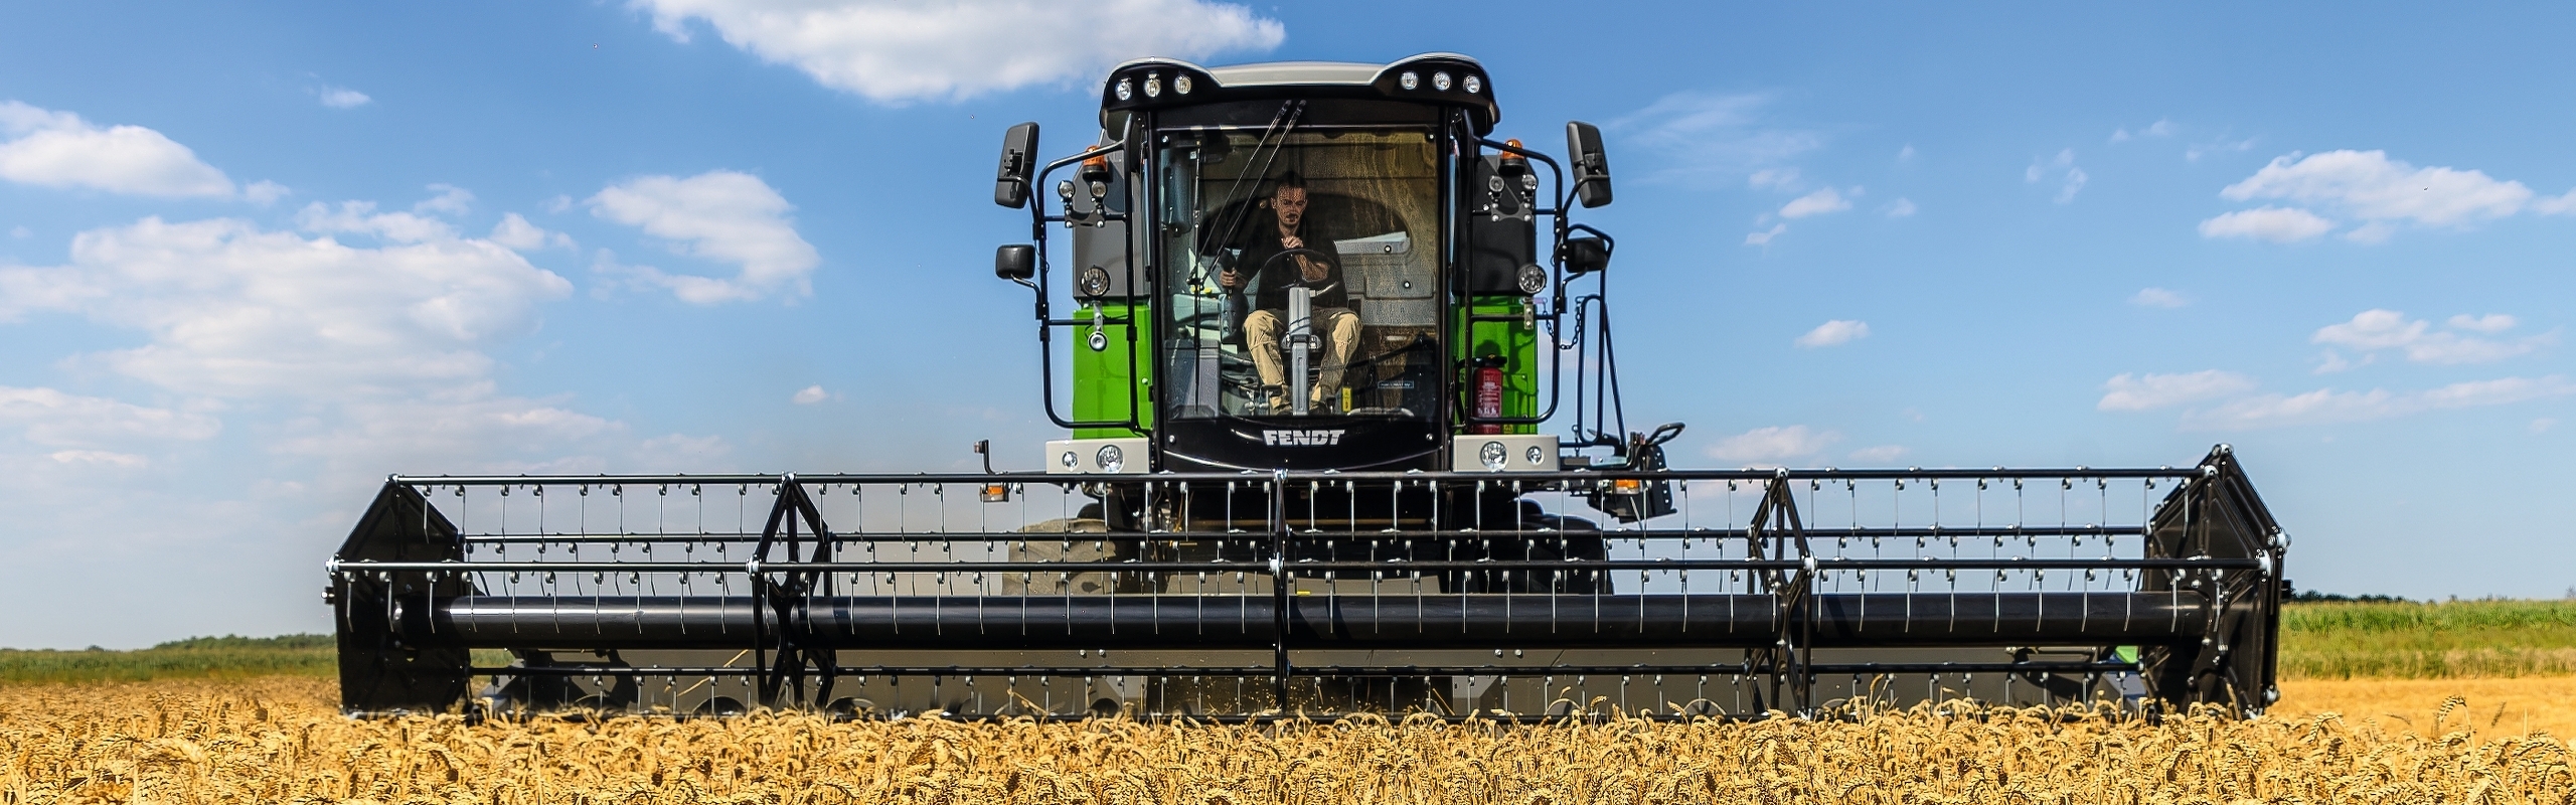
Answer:
<svg viewBox="0 0 2576 805"><path fill-rule="evenodd" d="M1342 266L1337 261L1309 255L1270 261L1291 248L1332 250L1332 237L1306 222L1306 178L1296 175L1296 170L1283 173L1270 183L1270 199L1262 206L1267 206L1267 214L1260 214L1239 243L1244 250L1236 261L1239 268L1221 271L1216 284L1244 289L1257 273L1275 273L1260 281L1260 299L1252 315L1244 317L1244 343L1252 346L1252 369L1262 377L1270 413L1291 408L1288 372L1280 361L1280 333L1288 330L1288 286L1303 281L1316 289L1309 299L1309 312L1314 315L1314 333L1324 338L1324 356L1306 405L1324 410L1324 400L1342 397L1342 369L1350 366L1350 353L1360 346L1360 315L1350 312L1350 294L1342 286Z"/></svg>

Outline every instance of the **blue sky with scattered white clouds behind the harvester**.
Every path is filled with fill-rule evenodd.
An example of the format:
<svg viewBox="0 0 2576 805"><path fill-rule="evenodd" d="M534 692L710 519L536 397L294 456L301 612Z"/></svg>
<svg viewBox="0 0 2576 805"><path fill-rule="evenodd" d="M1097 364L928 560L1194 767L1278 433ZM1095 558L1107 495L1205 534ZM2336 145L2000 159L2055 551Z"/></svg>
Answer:
<svg viewBox="0 0 2576 805"><path fill-rule="evenodd" d="M811 8L791 13L781 8ZM1466 52L1607 132L1687 464L2187 464L2303 588L2576 586L2566 5L0 10L0 645L327 630L386 472L1033 467L1007 124Z"/></svg>

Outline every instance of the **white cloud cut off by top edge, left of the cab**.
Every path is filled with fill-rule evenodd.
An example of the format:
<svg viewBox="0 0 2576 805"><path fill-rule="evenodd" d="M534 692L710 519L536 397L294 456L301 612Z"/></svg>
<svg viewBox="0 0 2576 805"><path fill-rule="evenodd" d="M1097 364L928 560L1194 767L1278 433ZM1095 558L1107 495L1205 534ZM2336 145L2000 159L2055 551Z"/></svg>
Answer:
<svg viewBox="0 0 2576 805"><path fill-rule="evenodd" d="M1288 31L1244 5L1200 0L631 0L654 28L690 21L726 44L873 101L938 101L1095 80L1141 54L1267 52Z"/></svg>

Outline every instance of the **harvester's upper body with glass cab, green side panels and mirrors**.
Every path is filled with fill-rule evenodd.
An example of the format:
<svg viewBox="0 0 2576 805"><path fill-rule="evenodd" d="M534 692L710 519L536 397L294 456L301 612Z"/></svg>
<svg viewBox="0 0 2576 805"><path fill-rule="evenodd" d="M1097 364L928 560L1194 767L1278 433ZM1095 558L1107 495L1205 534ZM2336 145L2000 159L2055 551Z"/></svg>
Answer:
<svg viewBox="0 0 2576 805"><path fill-rule="evenodd" d="M1615 382L1607 338L1579 351L1577 325L1607 320L1613 240L1569 217L1610 204L1592 124L1566 124L1564 163L1492 139L1497 88L1458 54L1139 59L1100 93L1097 144L1038 163L1038 124L1020 124L994 178L1033 237L994 268L1036 294L1046 413L1072 431L1046 444L1048 472L1628 457L1615 408L1579 413L1571 444L1538 431ZM1072 335L1061 356L1056 333Z"/></svg>

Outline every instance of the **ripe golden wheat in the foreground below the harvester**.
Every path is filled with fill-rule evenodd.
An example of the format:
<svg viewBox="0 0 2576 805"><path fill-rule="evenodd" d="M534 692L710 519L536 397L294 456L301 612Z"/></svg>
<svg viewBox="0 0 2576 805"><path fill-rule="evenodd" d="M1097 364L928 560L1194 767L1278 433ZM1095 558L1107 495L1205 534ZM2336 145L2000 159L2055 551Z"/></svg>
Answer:
<svg viewBox="0 0 2576 805"><path fill-rule="evenodd" d="M2164 725L1965 704L1553 728L466 725L348 720L322 679L54 684L0 689L0 802L2576 802L2568 743L2506 707L2388 707Z"/></svg>

